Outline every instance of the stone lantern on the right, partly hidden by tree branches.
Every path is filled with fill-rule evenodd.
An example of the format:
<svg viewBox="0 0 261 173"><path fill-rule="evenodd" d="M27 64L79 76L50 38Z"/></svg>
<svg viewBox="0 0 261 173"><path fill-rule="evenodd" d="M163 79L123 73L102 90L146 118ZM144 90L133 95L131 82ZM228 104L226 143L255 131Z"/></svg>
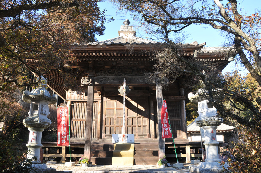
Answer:
<svg viewBox="0 0 261 173"><path fill-rule="evenodd" d="M202 169L221 172L223 168L219 166L221 159L219 159L218 153L219 142L216 140L216 128L221 125L223 119L217 115L216 108L208 104L208 99L199 96L201 92L204 91L200 89L195 95L193 93L188 94L190 101L198 103L199 117L196 118L196 123L204 130L205 136L206 159L204 162L199 163L196 169L197 172L204 172L201 171Z"/></svg>

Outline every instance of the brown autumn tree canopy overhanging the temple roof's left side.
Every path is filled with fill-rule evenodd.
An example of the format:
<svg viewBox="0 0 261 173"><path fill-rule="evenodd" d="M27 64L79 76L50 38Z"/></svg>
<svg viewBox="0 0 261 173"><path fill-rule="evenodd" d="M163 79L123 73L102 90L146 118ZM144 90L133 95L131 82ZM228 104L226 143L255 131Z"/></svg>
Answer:
<svg viewBox="0 0 261 173"><path fill-rule="evenodd" d="M103 34L105 11L98 2L0 1L0 91L10 83L37 84L28 78L27 69L45 77L55 70L75 80L77 73L64 66L77 62L71 53L74 42L93 42L95 34ZM62 87L73 83L64 82Z"/></svg>

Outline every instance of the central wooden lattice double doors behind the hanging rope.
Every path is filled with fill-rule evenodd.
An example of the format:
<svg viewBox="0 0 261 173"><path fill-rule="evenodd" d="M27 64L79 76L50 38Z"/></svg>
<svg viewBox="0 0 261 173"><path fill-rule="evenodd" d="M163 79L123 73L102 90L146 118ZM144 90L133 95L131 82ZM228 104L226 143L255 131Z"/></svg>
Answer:
<svg viewBox="0 0 261 173"><path fill-rule="evenodd" d="M122 133L123 97L103 99L103 138ZM149 138L148 97L126 97L126 133L135 138Z"/></svg>

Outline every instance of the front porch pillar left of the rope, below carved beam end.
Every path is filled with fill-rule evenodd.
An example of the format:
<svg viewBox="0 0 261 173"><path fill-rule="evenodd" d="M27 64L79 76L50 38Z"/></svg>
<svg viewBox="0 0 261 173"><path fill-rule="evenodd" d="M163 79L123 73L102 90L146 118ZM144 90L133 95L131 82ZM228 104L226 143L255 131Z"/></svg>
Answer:
<svg viewBox="0 0 261 173"><path fill-rule="evenodd" d="M90 77L93 81L93 77ZM86 116L86 127L85 127L85 143L84 143L84 156L88 157L91 161L91 144L92 144L92 114L93 114L93 91L94 84L88 85L87 94L87 116Z"/></svg>

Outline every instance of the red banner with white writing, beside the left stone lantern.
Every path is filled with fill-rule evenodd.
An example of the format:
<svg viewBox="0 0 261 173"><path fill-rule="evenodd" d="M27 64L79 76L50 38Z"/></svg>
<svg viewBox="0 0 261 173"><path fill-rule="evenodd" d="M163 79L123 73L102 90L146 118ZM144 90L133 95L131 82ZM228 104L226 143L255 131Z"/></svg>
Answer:
<svg viewBox="0 0 261 173"><path fill-rule="evenodd" d="M57 109L57 146L69 145L69 111L68 107Z"/></svg>

